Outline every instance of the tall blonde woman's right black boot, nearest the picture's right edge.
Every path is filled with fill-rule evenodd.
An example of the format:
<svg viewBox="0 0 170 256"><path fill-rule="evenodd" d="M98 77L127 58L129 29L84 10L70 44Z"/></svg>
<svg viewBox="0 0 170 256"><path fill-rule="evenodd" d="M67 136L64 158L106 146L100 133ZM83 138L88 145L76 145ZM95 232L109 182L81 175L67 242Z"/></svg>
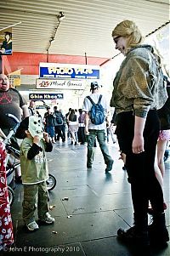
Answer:
<svg viewBox="0 0 170 256"><path fill-rule="evenodd" d="M153 214L153 223L148 227L150 243L163 245L169 241L167 227L165 225L165 213Z"/></svg>

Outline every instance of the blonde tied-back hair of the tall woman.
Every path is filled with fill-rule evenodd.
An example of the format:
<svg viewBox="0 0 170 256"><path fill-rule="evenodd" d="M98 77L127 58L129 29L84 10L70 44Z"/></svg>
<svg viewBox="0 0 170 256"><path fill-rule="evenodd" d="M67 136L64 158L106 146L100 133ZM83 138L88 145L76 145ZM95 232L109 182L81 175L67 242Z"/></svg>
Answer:
<svg viewBox="0 0 170 256"><path fill-rule="evenodd" d="M127 48L132 48L143 41L138 26L131 20L123 20L112 31L112 37L127 37Z"/></svg>

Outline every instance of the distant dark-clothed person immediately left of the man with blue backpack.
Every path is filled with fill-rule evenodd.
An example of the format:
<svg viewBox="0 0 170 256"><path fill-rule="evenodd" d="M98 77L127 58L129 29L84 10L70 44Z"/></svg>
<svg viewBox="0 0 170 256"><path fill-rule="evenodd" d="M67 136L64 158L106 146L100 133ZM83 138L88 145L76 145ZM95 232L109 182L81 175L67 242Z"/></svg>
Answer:
<svg viewBox="0 0 170 256"><path fill-rule="evenodd" d="M85 113L82 111L82 109L79 109L79 117L78 117L78 142L80 142L81 145L85 143L85 134L84 134L84 128L85 128Z"/></svg>

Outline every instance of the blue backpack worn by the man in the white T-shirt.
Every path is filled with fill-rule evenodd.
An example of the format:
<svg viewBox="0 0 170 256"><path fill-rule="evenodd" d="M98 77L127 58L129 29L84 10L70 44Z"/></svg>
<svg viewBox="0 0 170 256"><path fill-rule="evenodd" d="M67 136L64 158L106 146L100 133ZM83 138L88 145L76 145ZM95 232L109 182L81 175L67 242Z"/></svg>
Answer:
<svg viewBox="0 0 170 256"><path fill-rule="evenodd" d="M87 98L92 103L91 111L89 111L89 117L91 119L91 122L95 125L102 124L103 122L105 122L105 111L103 106L100 104L102 95L99 95L99 101L97 104L94 103L94 100L92 100L90 96L88 96Z"/></svg>

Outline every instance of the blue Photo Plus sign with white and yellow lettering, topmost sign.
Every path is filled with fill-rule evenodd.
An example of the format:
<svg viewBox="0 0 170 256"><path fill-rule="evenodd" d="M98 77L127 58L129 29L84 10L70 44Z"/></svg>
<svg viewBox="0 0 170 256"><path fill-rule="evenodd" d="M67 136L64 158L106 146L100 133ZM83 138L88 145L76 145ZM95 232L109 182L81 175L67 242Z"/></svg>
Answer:
<svg viewBox="0 0 170 256"><path fill-rule="evenodd" d="M99 79L98 65L71 65L43 63L39 65L40 78Z"/></svg>

